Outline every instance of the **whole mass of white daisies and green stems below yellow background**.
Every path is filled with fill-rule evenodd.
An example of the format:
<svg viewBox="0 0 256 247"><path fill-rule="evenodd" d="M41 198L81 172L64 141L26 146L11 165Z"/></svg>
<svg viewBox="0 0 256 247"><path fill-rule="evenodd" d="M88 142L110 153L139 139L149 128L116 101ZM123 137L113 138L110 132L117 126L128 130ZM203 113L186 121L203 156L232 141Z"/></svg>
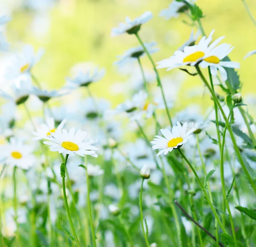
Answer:
<svg viewBox="0 0 256 247"><path fill-rule="evenodd" d="M194 2L173 1L160 16L170 19L185 12L196 23L201 15L195 19L189 12L197 8ZM250 183L249 193L256 188L256 126L244 109L234 70L240 64L228 58L234 47L221 43L224 36L214 40L214 30L208 36L203 29L192 30L174 55L155 63L151 55L159 51L157 43L144 43L140 37L143 25L152 18L150 11L134 20L126 17L125 23L111 31L111 37L129 34L138 41L138 46L113 62L126 80L113 84L111 92L125 98L115 107L91 90L104 80L104 68L88 62L76 64L64 86L47 90L47 83L34 74L42 49L34 52L25 45L20 52L6 52L0 89L0 184L5 178L12 183L3 184L4 191L0 190L4 212L2 217L0 208L0 228L4 222L0 244L11 242L14 236L17 246L27 239L31 246L39 246L38 241L45 246L66 246L69 237L77 246L182 247L186 241L188 246L202 247L221 233L227 244L236 246L233 219L236 227L241 220L233 211L241 205L239 193L243 196L248 186L241 172ZM10 20L2 16L0 25ZM5 47L0 32L0 49ZM151 67L145 66L145 60ZM193 67L195 73L187 70ZM162 77L161 68L183 71ZM209 84L203 73L207 71L201 72L205 68ZM191 75L200 76L211 93L214 107L206 114L202 112L208 103L183 107L180 89ZM223 92L215 93L216 84ZM203 94L205 88L201 89ZM191 102L197 96L182 92ZM203 100L208 96L205 93ZM183 217L175 203L192 221ZM253 214L253 210L244 211ZM219 213L228 215L231 223ZM252 225L242 221L237 237L249 247L244 232L247 224ZM203 225L201 229L208 227L209 236L196 232L193 222Z"/></svg>

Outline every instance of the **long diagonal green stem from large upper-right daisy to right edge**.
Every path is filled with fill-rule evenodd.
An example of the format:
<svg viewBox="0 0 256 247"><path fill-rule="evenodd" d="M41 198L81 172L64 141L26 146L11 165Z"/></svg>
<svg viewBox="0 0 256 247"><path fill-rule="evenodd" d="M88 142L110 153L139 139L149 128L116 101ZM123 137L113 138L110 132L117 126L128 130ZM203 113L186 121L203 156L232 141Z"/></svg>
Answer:
<svg viewBox="0 0 256 247"><path fill-rule="evenodd" d="M197 69L198 75L201 77L201 79L203 80L204 84L205 84L205 85L207 86L207 88L209 89L209 91L210 91L210 93L211 93L211 95L212 95L213 100L217 103L218 108L219 108L220 111L221 111L221 114L222 114L222 116L223 116L223 118L224 118L224 121L225 121L225 123L227 124L227 129L228 129L228 131L229 131L229 133L230 133L230 138L231 138L231 140L232 140L232 143L233 143L233 146L234 146L234 149L235 149L237 158L238 158L238 160L239 160L239 163L241 164L241 167L243 168L244 173L245 173L247 179L249 180L249 182L250 182L250 184L251 184L251 186L252 186L254 192L256 193L256 185L254 184L253 178L251 177L250 172L248 171L248 169L246 168L246 166L245 166L245 164L244 164L243 158L242 158L241 153L240 153L240 151L239 151L239 147L238 147L237 144L236 144L236 138L235 138L235 136L234 136L234 134L233 134L233 132L232 132L232 129L231 129L230 124L228 123L228 120L227 120L227 117L226 117L226 115L225 115L225 113L224 113L224 110L223 110L222 107L221 107L221 103L218 101L217 96L216 96L215 93L212 91L211 87L209 86L209 83L207 82L207 80L205 79L205 77L204 77L204 75L202 74L201 70L199 69L199 66L196 65L195 68Z"/></svg>

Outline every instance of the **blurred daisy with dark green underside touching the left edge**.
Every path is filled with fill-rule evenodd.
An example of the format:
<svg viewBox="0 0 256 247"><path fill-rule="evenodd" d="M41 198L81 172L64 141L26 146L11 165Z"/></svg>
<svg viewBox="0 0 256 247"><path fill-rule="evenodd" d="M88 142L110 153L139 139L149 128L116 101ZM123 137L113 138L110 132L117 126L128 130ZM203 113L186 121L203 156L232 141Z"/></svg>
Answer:
<svg viewBox="0 0 256 247"><path fill-rule="evenodd" d="M12 95L0 90L0 96L13 101L16 105L25 103L29 98L31 87L27 81L20 81L19 85L12 85L11 88Z"/></svg>

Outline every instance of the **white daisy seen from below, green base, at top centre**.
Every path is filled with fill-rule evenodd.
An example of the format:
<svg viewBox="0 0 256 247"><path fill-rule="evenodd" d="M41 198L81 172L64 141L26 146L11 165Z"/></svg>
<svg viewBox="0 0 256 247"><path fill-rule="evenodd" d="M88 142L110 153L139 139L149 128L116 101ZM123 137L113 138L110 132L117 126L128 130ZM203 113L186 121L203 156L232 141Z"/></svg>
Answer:
<svg viewBox="0 0 256 247"><path fill-rule="evenodd" d="M140 17L131 20L130 17L125 18L125 23L120 23L119 27L115 27L111 31L111 37L115 37L120 34L128 33L135 34L140 30L140 26L149 20L151 20L153 15L150 11L146 11Z"/></svg>

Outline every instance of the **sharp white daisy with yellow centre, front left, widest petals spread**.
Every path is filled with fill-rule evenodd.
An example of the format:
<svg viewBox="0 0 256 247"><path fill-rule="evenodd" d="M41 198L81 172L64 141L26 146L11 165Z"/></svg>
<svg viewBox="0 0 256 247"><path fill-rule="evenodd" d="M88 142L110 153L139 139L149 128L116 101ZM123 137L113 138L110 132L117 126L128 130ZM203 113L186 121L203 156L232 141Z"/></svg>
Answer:
<svg viewBox="0 0 256 247"><path fill-rule="evenodd" d="M99 150L95 146L90 145L88 142L83 142L86 136L85 131L79 129L77 132L75 128L70 129L67 132L66 129L55 130L51 135L47 136L48 141L44 141L44 144L50 146L52 152L59 152L68 155L91 155L93 157L98 157L94 150Z"/></svg>

